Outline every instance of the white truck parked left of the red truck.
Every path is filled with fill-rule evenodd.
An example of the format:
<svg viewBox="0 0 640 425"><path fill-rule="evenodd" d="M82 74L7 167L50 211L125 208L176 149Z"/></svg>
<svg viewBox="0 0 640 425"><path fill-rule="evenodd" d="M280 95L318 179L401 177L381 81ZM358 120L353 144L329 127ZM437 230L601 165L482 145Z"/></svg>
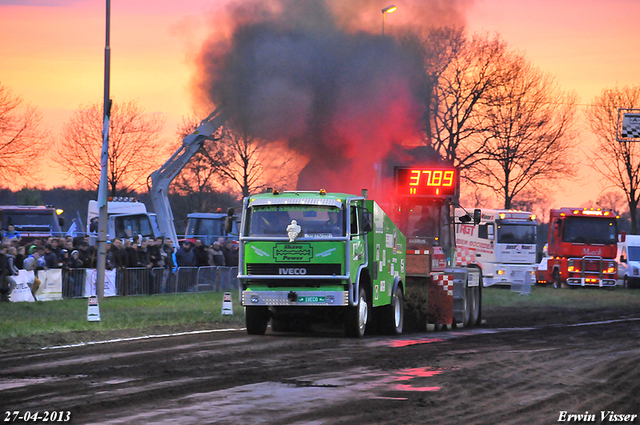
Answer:
<svg viewBox="0 0 640 425"><path fill-rule="evenodd" d="M527 211L482 208L478 226L456 224L456 262L482 269L484 286L535 282L535 215ZM455 216L466 212L456 209Z"/></svg>

